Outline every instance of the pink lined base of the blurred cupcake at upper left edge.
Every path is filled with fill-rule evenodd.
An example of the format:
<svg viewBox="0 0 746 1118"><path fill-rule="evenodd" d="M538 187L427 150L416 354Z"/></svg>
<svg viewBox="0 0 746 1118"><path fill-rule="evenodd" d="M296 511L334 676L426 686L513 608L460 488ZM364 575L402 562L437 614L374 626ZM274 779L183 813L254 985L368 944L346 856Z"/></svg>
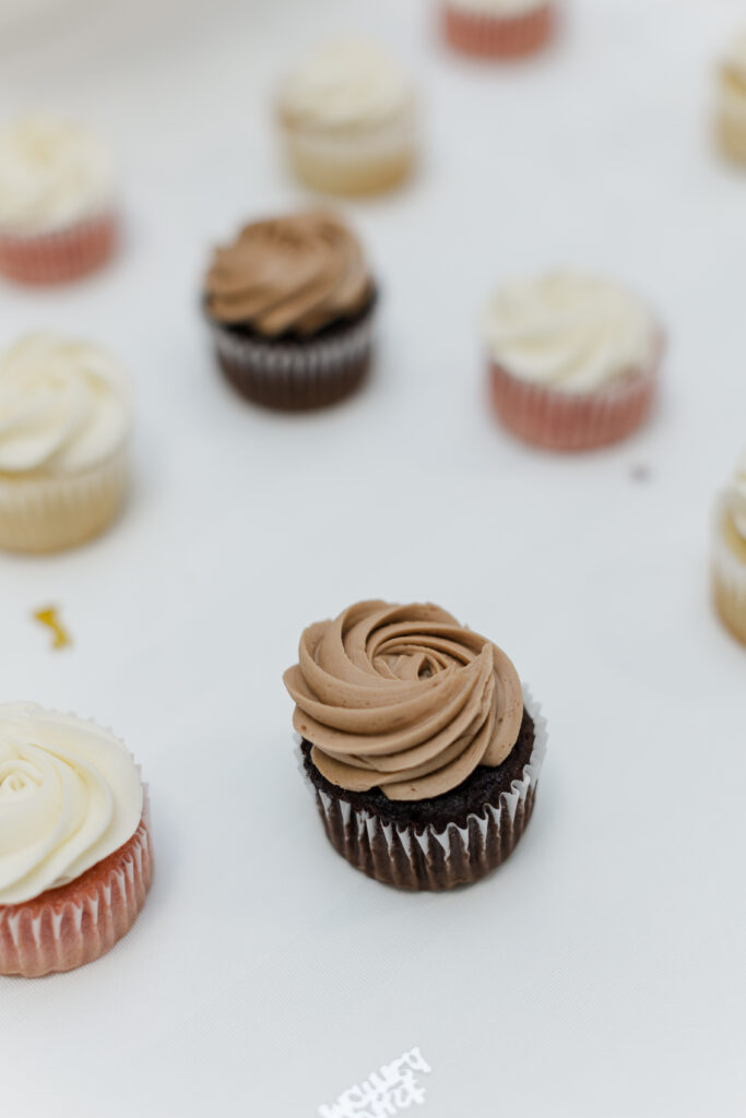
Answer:
<svg viewBox="0 0 746 1118"><path fill-rule="evenodd" d="M0 272L18 283L67 283L105 264L117 233L114 211L47 233L0 229Z"/></svg>

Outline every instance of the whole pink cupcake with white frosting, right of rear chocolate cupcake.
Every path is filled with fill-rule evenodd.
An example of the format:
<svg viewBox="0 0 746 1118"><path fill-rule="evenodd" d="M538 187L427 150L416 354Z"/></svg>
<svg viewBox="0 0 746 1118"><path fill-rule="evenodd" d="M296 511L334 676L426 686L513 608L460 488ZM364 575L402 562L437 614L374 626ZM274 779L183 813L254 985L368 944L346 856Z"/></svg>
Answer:
<svg viewBox="0 0 746 1118"><path fill-rule="evenodd" d="M504 286L483 315L492 399L520 438L585 451L650 413L663 335L635 295L597 276L554 273Z"/></svg>

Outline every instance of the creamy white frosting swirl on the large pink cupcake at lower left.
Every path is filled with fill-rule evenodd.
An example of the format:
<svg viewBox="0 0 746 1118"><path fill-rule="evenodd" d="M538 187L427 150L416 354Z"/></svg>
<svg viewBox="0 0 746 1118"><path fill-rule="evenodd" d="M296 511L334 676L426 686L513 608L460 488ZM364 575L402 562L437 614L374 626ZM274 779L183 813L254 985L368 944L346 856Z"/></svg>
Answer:
<svg viewBox="0 0 746 1118"><path fill-rule="evenodd" d="M0 904L79 878L129 842L142 806L138 768L108 730L0 705Z"/></svg>

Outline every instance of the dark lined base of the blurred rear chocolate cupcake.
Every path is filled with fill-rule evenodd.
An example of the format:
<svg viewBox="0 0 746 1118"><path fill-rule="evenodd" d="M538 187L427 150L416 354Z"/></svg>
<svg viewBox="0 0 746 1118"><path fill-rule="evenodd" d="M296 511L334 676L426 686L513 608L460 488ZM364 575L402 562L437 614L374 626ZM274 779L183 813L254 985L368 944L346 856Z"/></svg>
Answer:
<svg viewBox="0 0 746 1118"><path fill-rule="evenodd" d="M361 319L303 341L273 341L211 322L227 379L254 404L286 410L315 408L347 396L365 379L372 351L374 306Z"/></svg>

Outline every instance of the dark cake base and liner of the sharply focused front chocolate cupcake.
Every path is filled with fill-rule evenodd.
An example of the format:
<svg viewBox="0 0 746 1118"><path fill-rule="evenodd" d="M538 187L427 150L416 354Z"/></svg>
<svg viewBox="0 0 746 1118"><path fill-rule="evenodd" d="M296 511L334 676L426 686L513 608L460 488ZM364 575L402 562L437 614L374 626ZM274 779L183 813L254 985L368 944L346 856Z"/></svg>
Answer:
<svg viewBox="0 0 746 1118"><path fill-rule="evenodd" d="M444 795L412 802L390 800L380 788L340 788L313 764L311 743L303 740L301 749L337 852L385 884L442 890L478 881L514 849L533 811L541 760L536 739L525 710L518 740L502 765L480 765Z"/></svg>

